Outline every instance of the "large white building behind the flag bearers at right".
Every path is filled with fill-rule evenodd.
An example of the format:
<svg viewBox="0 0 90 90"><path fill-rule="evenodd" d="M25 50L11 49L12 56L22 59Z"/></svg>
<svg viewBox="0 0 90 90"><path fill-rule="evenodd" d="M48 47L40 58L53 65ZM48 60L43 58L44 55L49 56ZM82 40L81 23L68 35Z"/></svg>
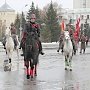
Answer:
<svg viewBox="0 0 90 90"><path fill-rule="evenodd" d="M90 0L73 0L73 9L62 9L59 15L59 23L64 20L65 24L71 23L76 27L80 20L81 33L90 37Z"/></svg>

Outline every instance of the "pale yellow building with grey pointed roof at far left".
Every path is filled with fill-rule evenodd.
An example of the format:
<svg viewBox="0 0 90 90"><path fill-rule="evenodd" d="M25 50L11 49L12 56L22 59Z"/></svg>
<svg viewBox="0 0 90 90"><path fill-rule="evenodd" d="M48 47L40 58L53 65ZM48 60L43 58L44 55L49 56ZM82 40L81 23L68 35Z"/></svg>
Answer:
<svg viewBox="0 0 90 90"><path fill-rule="evenodd" d="M0 7L0 39L4 36L6 27L14 23L15 18L15 10L5 2L5 4Z"/></svg>

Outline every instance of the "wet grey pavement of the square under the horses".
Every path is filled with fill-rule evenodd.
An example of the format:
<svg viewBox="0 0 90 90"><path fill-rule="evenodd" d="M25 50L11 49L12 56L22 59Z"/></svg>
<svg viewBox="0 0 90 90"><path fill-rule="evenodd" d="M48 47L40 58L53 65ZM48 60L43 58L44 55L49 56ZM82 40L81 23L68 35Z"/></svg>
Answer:
<svg viewBox="0 0 90 90"><path fill-rule="evenodd" d="M43 44L45 55L39 56L38 74L27 80L23 57L13 53L12 70L4 71L7 59L0 48L0 90L90 90L90 47L85 54L79 50L72 61L72 71L64 70L64 56L57 53L58 43ZM21 51L20 51L21 54Z"/></svg>

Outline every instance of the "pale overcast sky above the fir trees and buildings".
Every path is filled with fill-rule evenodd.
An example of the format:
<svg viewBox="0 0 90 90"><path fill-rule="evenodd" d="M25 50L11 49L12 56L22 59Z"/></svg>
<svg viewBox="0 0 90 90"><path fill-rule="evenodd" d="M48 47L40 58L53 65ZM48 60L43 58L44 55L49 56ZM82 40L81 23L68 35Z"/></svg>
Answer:
<svg viewBox="0 0 90 90"><path fill-rule="evenodd" d="M16 11L25 11L31 5L31 2L34 2L35 6L38 5L40 9L46 6L51 0L6 0L6 2ZM63 8L73 8L73 0L52 0L52 2L57 2L61 4ZM5 0L0 0L0 7L5 3ZM28 4L27 7L25 5Z"/></svg>

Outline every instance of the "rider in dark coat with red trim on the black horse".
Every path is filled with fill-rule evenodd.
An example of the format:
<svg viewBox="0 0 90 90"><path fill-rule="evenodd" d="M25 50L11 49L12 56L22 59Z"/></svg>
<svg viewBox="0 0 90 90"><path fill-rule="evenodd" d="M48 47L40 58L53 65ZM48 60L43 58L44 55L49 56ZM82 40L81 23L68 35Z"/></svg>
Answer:
<svg viewBox="0 0 90 90"><path fill-rule="evenodd" d="M36 23L35 14L31 14L30 21L26 22L26 24L25 24L23 36L22 36L22 40L21 40L21 46L23 45L22 43L25 42L28 32L33 32L35 34L35 36L36 36L35 38L37 39L38 45L39 45L39 53L41 55L44 55L44 52L42 51L42 44L41 44L41 41L39 39L39 37L40 37L40 25L38 23Z"/></svg>

